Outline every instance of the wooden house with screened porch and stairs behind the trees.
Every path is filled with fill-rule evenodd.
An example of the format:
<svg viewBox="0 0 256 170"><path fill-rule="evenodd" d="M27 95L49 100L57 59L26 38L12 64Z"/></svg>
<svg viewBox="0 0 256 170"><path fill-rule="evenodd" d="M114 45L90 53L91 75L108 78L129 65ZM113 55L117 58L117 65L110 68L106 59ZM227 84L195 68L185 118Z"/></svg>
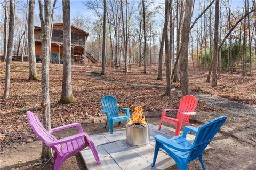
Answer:
<svg viewBox="0 0 256 170"><path fill-rule="evenodd" d="M71 25L71 53L73 61L80 62L84 56L92 62L97 62L89 53L86 52L86 41L89 33ZM41 27L35 27L35 50L36 55L41 57ZM63 23L54 23L52 30L51 60L59 62L63 56Z"/></svg>

